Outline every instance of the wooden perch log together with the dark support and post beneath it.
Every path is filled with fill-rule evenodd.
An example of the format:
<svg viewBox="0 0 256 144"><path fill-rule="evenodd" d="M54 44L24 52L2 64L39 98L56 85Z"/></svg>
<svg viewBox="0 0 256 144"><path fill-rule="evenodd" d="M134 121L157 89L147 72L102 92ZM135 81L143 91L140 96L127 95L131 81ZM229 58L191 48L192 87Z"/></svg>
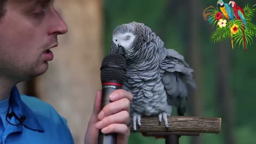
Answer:
<svg viewBox="0 0 256 144"><path fill-rule="evenodd" d="M166 129L163 123L159 125L158 117L141 117L141 126L137 126L136 132L146 137L163 137L165 144L178 144L181 135L198 136L200 133L220 133L221 130L221 118L169 116L168 122Z"/></svg>

